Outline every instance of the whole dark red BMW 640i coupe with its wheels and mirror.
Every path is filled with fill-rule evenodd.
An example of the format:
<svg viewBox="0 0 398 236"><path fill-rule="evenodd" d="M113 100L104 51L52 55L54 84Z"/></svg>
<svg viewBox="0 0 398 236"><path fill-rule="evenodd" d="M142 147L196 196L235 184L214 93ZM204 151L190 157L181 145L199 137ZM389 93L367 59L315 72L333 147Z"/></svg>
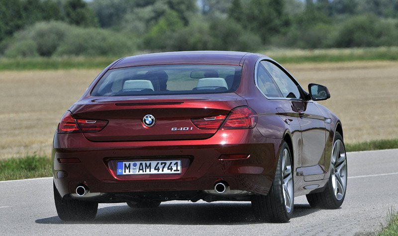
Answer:
<svg viewBox="0 0 398 236"><path fill-rule="evenodd" d="M294 198L335 209L347 161L340 120L271 58L171 52L119 59L65 112L53 142L54 199L64 221L98 203L251 201L288 222Z"/></svg>

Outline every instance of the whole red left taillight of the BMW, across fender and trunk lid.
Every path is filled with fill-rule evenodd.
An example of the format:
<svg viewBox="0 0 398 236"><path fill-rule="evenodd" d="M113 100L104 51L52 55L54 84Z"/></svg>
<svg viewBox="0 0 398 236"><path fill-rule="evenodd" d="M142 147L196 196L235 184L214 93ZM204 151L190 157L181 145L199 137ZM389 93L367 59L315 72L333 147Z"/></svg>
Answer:
<svg viewBox="0 0 398 236"><path fill-rule="evenodd" d="M65 112L58 124L57 133L95 133L108 124L107 120L75 119L70 111Z"/></svg>

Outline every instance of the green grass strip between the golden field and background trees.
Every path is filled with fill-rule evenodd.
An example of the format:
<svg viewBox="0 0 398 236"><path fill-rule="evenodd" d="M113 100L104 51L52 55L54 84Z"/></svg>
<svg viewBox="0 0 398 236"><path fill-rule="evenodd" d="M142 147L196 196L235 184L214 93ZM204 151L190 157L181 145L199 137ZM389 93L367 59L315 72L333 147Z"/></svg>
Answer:
<svg viewBox="0 0 398 236"><path fill-rule="evenodd" d="M138 54L145 53L139 52ZM346 49L271 49L260 51L280 63L397 61L398 47ZM0 58L0 71L102 69L120 57Z"/></svg>

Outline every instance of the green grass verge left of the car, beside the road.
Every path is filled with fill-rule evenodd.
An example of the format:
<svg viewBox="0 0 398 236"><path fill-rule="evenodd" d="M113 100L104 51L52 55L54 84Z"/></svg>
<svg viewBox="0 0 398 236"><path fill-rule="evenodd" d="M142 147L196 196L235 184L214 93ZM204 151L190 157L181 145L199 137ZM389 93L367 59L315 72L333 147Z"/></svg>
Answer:
<svg viewBox="0 0 398 236"><path fill-rule="evenodd" d="M0 160L0 181L51 176L49 157L27 156Z"/></svg>

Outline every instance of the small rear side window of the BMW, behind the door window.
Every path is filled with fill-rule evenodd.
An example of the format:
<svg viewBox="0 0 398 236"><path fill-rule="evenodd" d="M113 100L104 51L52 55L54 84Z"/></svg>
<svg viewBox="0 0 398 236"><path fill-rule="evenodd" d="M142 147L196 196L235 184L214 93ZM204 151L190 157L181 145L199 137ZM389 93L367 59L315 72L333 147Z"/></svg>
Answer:
<svg viewBox="0 0 398 236"><path fill-rule="evenodd" d="M267 97L282 97L277 84L261 64L258 65L257 69L257 86Z"/></svg>

